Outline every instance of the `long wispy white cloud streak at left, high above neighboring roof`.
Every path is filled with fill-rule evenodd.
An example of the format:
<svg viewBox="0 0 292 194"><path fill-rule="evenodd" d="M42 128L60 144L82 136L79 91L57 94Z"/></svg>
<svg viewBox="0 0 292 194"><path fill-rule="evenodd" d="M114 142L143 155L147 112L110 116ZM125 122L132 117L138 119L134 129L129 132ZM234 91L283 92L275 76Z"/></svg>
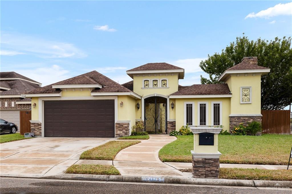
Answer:
<svg viewBox="0 0 292 194"><path fill-rule="evenodd" d="M21 34L1 35L1 47L19 50L27 54L34 54L43 58L86 57L87 55L70 43L48 41L33 36Z"/></svg>

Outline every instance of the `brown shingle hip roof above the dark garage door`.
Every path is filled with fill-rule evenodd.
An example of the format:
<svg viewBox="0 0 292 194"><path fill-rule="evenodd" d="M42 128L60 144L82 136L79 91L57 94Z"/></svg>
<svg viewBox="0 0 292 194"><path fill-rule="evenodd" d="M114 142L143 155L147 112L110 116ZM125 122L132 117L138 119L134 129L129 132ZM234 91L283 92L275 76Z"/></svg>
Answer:
<svg viewBox="0 0 292 194"><path fill-rule="evenodd" d="M102 88L92 90L91 92L132 92L124 86L112 81L108 77L98 73L97 71L91 71L86 74L75 76L64 81L53 83L51 85L44 86L42 88L28 92L27 94L51 94L60 93L61 90L52 88L52 85L63 85L63 84L93 84L98 83L102 85Z"/></svg>

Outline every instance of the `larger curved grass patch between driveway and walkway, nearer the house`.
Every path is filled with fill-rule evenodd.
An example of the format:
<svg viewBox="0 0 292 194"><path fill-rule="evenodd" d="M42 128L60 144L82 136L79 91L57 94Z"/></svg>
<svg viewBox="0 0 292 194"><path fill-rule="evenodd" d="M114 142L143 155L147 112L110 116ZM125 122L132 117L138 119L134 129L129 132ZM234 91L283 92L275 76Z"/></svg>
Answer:
<svg viewBox="0 0 292 194"><path fill-rule="evenodd" d="M85 160L114 160L122 149L138 144L141 141L109 141L103 145L84 151L80 159Z"/></svg>

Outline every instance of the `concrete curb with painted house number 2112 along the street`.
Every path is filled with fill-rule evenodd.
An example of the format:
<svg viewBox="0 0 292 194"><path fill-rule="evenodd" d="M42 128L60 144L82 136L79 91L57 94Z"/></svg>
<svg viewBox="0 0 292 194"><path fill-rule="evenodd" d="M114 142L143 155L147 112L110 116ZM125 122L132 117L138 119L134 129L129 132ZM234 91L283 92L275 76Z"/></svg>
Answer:
<svg viewBox="0 0 292 194"><path fill-rule="evenodd" d="M224 186L248 186L248 187L290 187L292 181L260 181L260 180L234 180L234 179L197 179L180 177L158 176L116 176L116 175L92 175L92 174L58 174L42 176L41 179L65 179L87 181L119 181L140 183L173 183L173 184L197 184L197 185L224 185Z"/></svg>

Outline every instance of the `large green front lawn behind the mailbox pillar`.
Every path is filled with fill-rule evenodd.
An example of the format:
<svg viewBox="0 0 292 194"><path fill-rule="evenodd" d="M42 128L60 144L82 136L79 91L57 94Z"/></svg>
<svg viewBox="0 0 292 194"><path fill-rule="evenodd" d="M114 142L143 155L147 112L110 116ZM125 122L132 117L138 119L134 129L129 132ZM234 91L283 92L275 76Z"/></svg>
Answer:
<svg viewBox="0 0 292 194"><path fill-rule="evenodd" d="M220 163L288 165L291 142L292 135L219 135ZM193 149L193 136L178 136L159 151L159 158L163 162L192 162Z"/></svg>

